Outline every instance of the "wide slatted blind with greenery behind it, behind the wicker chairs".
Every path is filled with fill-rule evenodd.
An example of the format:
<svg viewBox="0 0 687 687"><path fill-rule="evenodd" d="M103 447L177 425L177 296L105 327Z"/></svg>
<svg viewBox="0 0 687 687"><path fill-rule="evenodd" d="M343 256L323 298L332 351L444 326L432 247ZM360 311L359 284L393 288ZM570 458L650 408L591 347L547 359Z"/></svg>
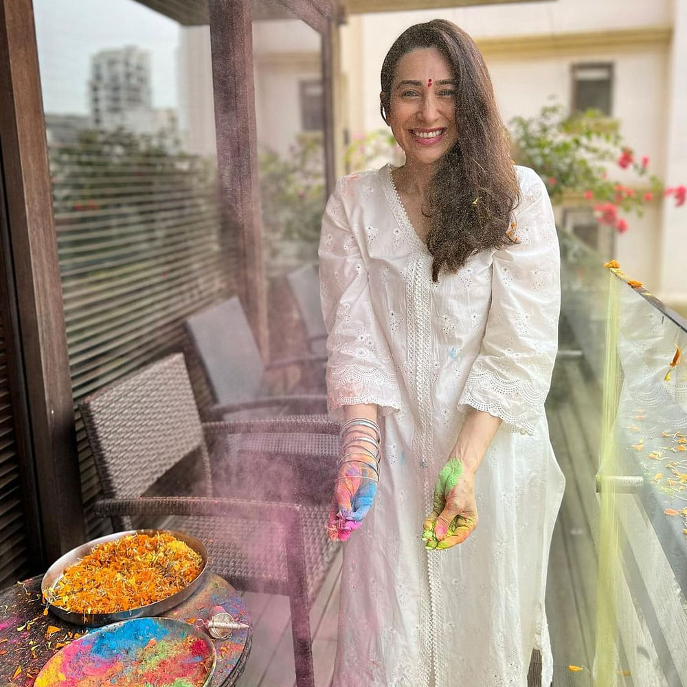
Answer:
<svg viewBox="0 0 687 687"><path fill-rule="evenodd" d="M54 218L89 537L100 486L76 405L184 345L183 321L236 292L212 159L119 131L49 149ZM193 372L193 371L192 371Z"/></svg>

